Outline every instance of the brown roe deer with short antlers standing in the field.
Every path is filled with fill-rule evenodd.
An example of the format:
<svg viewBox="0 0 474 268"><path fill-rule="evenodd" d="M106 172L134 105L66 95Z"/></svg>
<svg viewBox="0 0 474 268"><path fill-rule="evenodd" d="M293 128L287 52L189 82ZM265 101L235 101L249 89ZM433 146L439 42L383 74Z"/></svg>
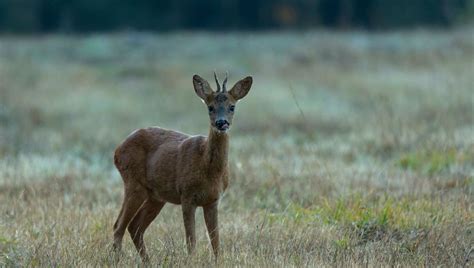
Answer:
<svg viewBox="0 0 474 268"><path fill-rule="evenodd" d="M114 224L114 249L120 251L128 232L143 262L149 260L143 234L167 203L181 204L189 253L195 248L197 207L204 220L217 258L219 229L217 206L228 184L227 153L235 104L250 90L252 77L226 90L227 74L221 86L214 73L217 90L199 75L193 76L196 94L207 105L209 136L189 136L159 127L139 129L115 150L114 162L124 183L124 199Z"/></svg>

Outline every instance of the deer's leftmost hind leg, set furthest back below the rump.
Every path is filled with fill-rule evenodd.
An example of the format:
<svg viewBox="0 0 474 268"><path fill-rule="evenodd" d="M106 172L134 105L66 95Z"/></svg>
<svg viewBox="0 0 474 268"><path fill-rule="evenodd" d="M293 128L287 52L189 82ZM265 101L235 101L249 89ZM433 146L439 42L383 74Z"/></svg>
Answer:
<svg viewBox="0 0 474 268"><path fill-rule="evenodd" d="M137 211L143 205L146 198L147 191L143 186L138 183L135 185L126 185L122 209L120 210L120 214L114 224L115 251L120 251L122 249L122 238L125 234L125 229L135 214L137 214Z"/></svg>

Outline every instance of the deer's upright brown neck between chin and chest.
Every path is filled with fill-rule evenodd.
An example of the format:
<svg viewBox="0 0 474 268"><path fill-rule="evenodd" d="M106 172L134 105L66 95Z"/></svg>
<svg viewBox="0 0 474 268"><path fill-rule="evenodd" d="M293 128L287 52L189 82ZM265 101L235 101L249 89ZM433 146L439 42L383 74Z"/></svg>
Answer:
<svg viewBox="0 0 474 268"><path fill-rule="evenodd" d="M206 148L208 172L211 177L220 177L226 171L228 151L229 135L215 131L211 127Z"/></svg>

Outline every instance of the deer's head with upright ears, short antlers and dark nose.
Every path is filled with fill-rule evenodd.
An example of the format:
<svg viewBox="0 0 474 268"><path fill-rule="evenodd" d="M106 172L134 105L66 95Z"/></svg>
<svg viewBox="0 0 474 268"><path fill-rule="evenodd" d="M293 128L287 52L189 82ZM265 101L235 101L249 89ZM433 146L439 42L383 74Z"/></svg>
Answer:
<svg viewBox="0 0 474 268"><path fill-rule="evenodd" d="M235 105L250 91L252 77L247 76L238 81L229 91L226 88L227 73L222 83L222 88L215 72L214 79L216 80L216 91L211 89L211 86L204 78L197 74L194 75L194 91L207 105L211 127L220 133L225 133L232 125Z"/></svg>

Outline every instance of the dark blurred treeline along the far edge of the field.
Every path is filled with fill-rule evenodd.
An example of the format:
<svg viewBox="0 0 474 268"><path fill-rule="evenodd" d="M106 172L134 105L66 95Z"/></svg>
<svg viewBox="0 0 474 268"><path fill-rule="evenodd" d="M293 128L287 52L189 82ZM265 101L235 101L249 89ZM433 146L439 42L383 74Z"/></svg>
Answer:
<svg viewBox="0 0 474 268"><path fill-rule="evenodd" d="M391 29L472 20L474 0L0 0L1 32Z"/></svg>

